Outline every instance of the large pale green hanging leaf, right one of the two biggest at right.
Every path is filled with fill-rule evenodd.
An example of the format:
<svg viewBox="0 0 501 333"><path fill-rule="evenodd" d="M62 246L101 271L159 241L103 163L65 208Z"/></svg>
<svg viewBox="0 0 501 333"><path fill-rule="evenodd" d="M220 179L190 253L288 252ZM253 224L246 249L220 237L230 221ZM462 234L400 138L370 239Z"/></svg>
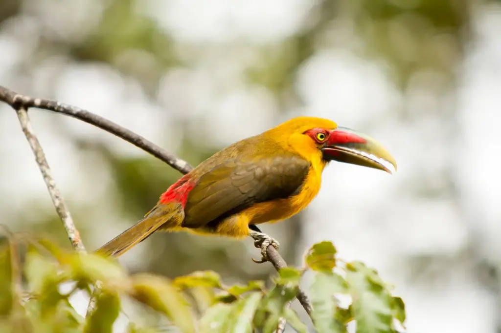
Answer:
<svg viewBox="0 0 501 333"><path fill-rule="evenodd" d="M391 295L377 271L359 261L346 267L357 333L393 332Z"/></svg>

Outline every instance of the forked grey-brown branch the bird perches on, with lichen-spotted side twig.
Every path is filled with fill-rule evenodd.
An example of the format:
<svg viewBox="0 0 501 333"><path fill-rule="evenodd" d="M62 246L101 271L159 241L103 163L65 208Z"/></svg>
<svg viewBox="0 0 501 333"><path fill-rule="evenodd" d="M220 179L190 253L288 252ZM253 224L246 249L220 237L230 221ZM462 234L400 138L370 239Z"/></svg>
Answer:
<svg viewBox="0 0 501 333"><path fill-rule="evenodd" d="M47 164L47 160L45 159L45 155L42 151L42 147L40 146L38 139L36 138L35 134L33 133L33 130L31 129L31 126L29 125L28 114L26 112L28 108L37 107L69 115L71 117L85 121L101 129L104 129L107 132L115 134L116 136L134 144L135 146L143 149L144 151L149 152L158 159L163 160L164 162L166 162L167 164L169 164L170 166L172 166L173 168L182 173L188 173L190 170L193 169L193 167L188 162L167 152L165 149L159 147L158 145L147 140L141 135L138 135L133 131L120 126L119 124L114 123L113 121L110 121L85 109L72 105L63 104L55 100L26 96L17 93L15 91L12 91L2 85L0 85L0 100L8 103L18 111L18 116L20 117L22 125L25 120L27 121L26 123L28 123L28 125L23 127L23 131L25 131L26 127L27 130L25 131L25 134L27 135L27 138L30 141L30 145L32 145L32 149L34 150L35 155L37 156L37 162L39 162L40 169L44 174L44 179L46 180L47 187L49 188L51 197L53 198L56 210L58 211L61 220L63 220L65 229L68 232L70 240L74 244L74 247L78 250L85 250L84 245L82 244L78 231L75 228L75 225L73 224L73 220L71 218L69 210L66 207L59 190L57 190L56 183L52 178L49 165ZM28 136L29 134L30 136ZM44 163L40 163L39 161L40 157L43 158L40 159L40 161ZM55 189L56 191L53 191L53 189ZM277 271L284 267L287 267L287 262L284 260L284 258L280 255L280 253L277 251L275 247L273 247L272 245L268 246L267 253L268 257L270 258L270 261L275 266L275 269L277 269ZM301 303L301 305L303 305L303 307L305 308L306 312L311 316L311 310L312 310L311 302L308 299L306 293L302 289L299 290L297 298Z"/></svg>

